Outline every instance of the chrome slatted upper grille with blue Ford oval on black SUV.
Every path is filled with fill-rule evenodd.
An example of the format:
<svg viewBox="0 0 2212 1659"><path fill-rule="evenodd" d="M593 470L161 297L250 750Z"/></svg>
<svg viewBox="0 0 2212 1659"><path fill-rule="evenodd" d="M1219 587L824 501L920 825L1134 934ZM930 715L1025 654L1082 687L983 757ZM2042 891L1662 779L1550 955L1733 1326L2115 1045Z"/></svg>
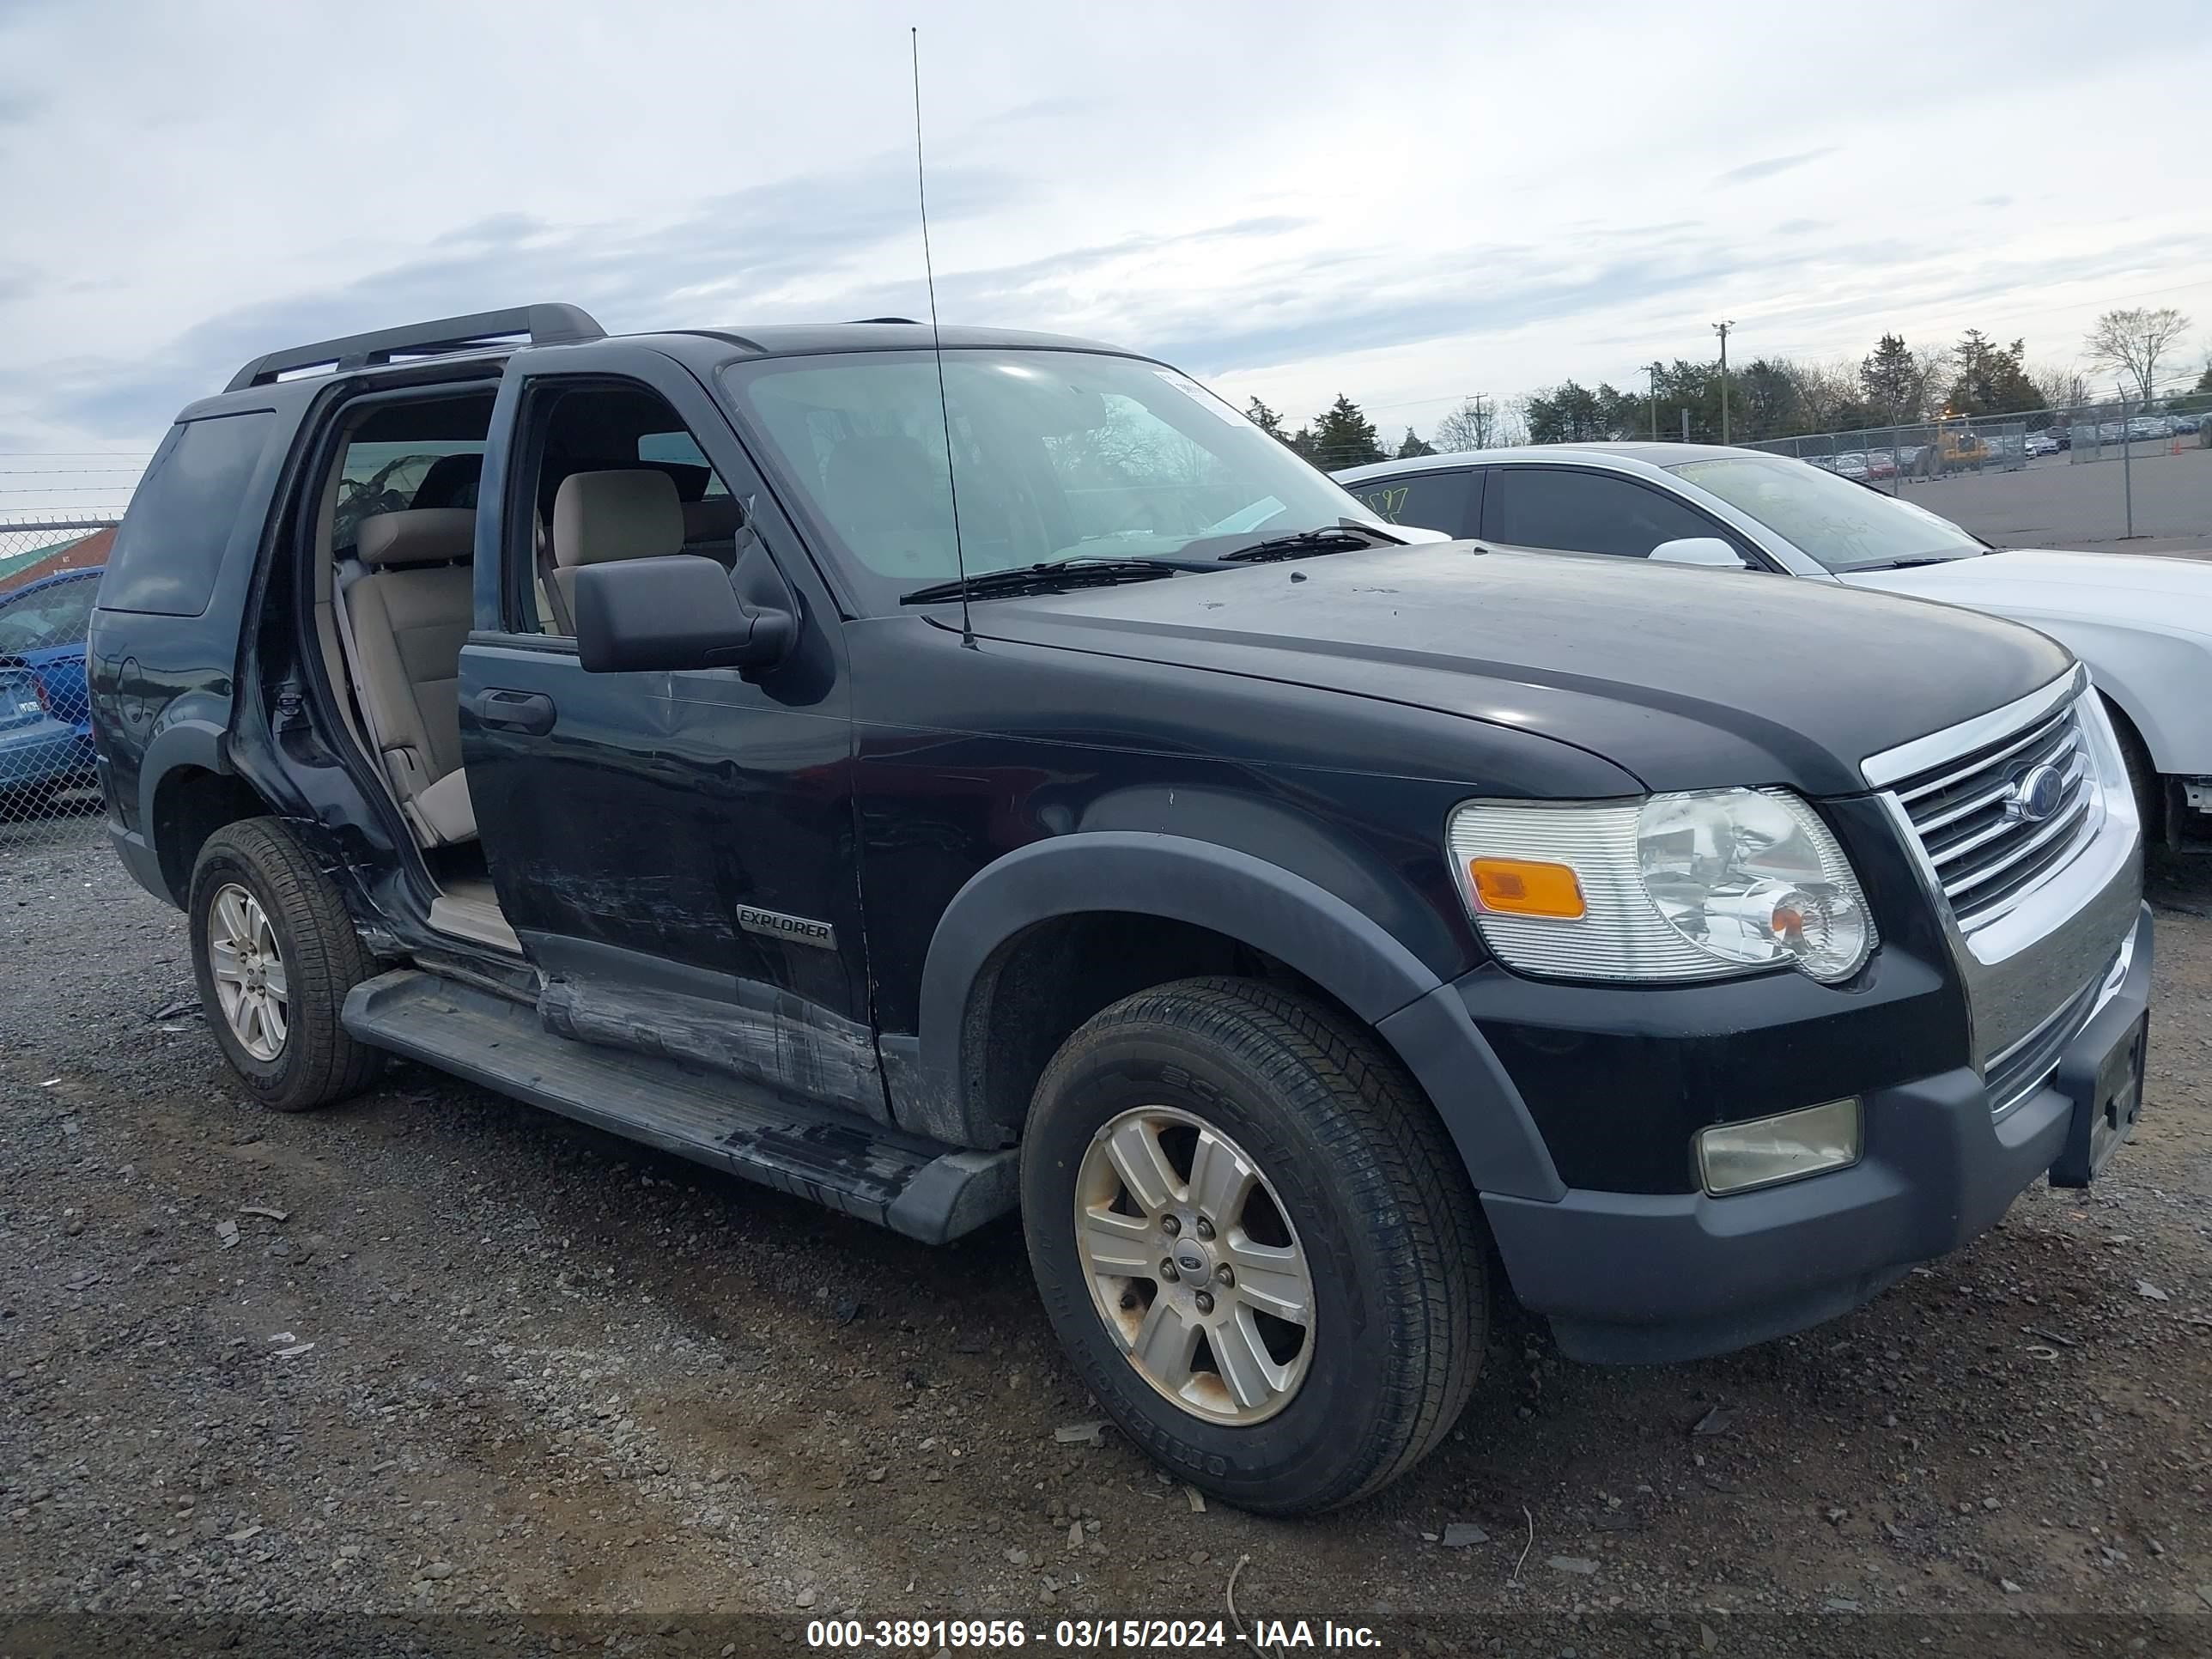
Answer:
<svg viewBox="0 0 2212 1659"><path fill-rule="evenodd" d="M2017 816L2017 785L2042 765L2059 772L2057 805L2044 818ZM2097 807L2070 701L2011 737L1900 779L1896 794L1964 931L2002 916L2062 865Z"/></svg>

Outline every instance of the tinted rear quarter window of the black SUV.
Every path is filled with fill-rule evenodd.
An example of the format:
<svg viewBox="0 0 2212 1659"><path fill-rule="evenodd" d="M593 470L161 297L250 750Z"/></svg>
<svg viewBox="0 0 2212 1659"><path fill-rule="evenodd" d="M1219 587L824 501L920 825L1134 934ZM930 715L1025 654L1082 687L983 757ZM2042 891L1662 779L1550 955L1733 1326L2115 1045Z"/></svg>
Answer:
<svg viewBox="0 0 2212 1659"><path fill-rule="evenodd" d="M170 429L115 533L100 584L104 611L197 617L208 608L272 420L254 409Z"/></svg>

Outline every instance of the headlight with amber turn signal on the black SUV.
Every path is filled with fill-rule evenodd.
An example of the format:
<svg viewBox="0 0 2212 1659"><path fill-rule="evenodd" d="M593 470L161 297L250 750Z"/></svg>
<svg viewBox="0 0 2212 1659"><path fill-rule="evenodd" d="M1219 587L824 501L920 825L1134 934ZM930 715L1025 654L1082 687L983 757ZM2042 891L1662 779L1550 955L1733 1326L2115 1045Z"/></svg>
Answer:
<svg viewBox="0 0 2212 1659"><path fill-rule="evenodd" d="M1528 973L1710 980L1792 964L1834 984L1876 945L1858 876L1787 790L1469 801L1447 841L1482 940Z"/></svg>

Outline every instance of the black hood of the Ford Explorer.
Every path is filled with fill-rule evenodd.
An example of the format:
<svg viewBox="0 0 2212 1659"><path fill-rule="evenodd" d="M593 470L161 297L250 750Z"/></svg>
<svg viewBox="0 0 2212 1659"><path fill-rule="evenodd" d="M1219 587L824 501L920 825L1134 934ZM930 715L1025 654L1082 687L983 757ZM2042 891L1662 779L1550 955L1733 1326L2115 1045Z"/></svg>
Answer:
<svg viewBox="0 0 2212 1659"><path fill-rule="evenodd" d="M1650 790L1858 794L1863 757L2073 664L1973 611L1752 571L1467 542L973 606L984 637L1438 710L1573 743Z"/></svg>

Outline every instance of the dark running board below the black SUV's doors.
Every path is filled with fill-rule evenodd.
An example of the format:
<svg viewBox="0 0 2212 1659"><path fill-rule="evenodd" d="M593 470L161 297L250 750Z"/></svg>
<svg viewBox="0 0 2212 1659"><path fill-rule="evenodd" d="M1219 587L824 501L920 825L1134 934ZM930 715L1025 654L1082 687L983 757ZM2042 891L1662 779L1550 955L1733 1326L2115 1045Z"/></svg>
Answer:
<svg viewBox="0 0 2212 1659"><path fill-rule="evenodd" d="M374 1048L922 1243L1018 1203L1011 1150L969 1152L728 1073L557 1037L533 1006L420 969L356 984L343 1018Z"/></svg>

